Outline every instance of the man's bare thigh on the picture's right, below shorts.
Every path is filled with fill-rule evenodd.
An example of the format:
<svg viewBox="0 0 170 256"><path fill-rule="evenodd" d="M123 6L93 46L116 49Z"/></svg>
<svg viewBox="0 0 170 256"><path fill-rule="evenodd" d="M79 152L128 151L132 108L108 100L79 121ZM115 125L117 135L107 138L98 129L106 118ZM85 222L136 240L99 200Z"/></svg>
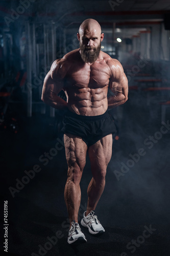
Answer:
<svg viewBox="0 0 170 256"><path fill-rule="evenodd" d="M91 145L88 154L92 170L106 170L112 156L112 134Z"/></svg>

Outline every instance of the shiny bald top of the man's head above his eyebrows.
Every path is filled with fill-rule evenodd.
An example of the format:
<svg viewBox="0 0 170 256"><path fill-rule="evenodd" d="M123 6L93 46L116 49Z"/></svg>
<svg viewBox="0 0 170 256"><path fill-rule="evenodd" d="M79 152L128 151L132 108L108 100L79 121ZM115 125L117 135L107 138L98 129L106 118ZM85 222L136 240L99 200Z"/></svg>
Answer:
<svg viewBox="0 0 170 256"><path fill-rule="evenodd" d="M93 31L97 34L102 33L101 25L95 19L92 19L92 18L88 18L84 20L84 22L80 25L79 34L82 35L85 30L90 32Z"/></svg>

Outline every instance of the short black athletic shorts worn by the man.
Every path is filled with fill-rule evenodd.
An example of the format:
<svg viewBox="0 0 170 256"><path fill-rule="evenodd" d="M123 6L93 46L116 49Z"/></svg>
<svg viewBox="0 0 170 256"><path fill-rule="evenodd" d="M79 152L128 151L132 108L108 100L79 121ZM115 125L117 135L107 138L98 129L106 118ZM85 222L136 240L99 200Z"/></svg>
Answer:
<svg viewBox="0 0 170 256"><path fill-rule="evenodd" d="M107 111L99 116L83 116L68 111L63 119L63 125L63 133L81 137L87 146L116 132L113 118Z"/></svg>

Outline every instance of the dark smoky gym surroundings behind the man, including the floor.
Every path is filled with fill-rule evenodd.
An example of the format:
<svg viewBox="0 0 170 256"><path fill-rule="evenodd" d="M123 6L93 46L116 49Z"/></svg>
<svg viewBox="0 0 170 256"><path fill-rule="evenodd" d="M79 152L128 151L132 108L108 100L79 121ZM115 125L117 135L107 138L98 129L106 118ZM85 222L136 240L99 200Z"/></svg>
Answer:
<svg viewBox="0 0 170 256"><path fill-rule="evenodd" d="M1 255L168 256L170 2L1 0L0 12ZM41 91L53 61L79 48L86 18L102 26L101 50L122 63L129 99L109 111L117 133L96 208L106 232L82 227L88 242L70 247L63 116ZM90 179L87 156L79 220Z"/></svg>

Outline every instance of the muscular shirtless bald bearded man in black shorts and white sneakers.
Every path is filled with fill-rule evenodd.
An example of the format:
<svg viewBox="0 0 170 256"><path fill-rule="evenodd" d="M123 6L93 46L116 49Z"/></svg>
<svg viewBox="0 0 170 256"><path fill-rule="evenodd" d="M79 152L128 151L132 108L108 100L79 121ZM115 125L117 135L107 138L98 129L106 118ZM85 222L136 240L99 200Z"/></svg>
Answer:
<svg viewBox="0 0 170 256"><path fill-rule="evenodd" d="M79 28L80 48L54 61L47 73L42 100L59 110L67 110L63 120L68 178L64 199L70 220L69 244L86 242L78 224L81 201L80 180L88 151L92 179L87 188L87 210L81 224L92 234L105 232L94 210L105 187L107 165L112 155L115 126L108 108L128 99L128 81L116 59L101 51L104 34L94 19L86 19ZM108 87L113 96L107 98ZM58 96L63 90L67 102Z"/></svg>

